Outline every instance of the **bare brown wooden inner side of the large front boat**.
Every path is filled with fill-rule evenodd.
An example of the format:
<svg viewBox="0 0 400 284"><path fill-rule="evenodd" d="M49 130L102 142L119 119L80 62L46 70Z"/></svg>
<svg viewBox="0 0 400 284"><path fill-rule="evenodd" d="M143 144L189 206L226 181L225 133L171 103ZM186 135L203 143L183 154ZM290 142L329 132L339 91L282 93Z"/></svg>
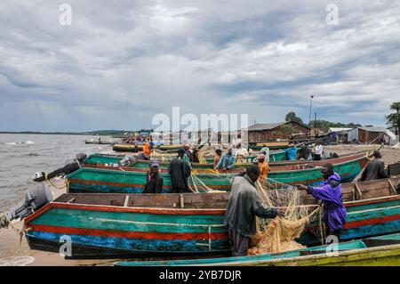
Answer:
<svg viewBox="0 0 400 284"><path fill-rule="evenodd" d="M343 183L342 194L345 202L365 199L385 199L398 195L396 184L399 177L368 181L362 183ZM290 190L274 190L274 194L287 194ZM101 205L113 207L160 207L188 209L225 209L228 206L229 192L207 193L66 193L55 202ZM400 198L400 196L399 196ZM316 205L317 200L306 191L300 192L302 205Z"/></svg>

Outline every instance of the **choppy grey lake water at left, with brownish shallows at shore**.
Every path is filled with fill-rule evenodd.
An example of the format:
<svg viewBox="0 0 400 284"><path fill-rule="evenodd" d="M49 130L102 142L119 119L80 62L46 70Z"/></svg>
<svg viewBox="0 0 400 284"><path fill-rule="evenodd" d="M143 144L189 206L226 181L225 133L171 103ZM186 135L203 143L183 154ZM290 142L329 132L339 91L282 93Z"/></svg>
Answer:
<svg viewBox="0 0 400 284"><path fill-rule="evenodd" d="M36 172L52 172L76 153L108 152L110 145L85 144L97 139L84 135L0 134L0 214L20 206ZM103 141L110 140L102 137ZM0 266L32 262L27 247L18 238L0 229Z"/></svg>

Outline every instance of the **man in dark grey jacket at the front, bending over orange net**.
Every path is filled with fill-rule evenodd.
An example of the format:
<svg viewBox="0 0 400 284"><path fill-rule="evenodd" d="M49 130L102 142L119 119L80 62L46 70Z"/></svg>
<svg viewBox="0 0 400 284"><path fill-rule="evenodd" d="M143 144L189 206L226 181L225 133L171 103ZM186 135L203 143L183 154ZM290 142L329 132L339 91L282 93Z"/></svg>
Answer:
<svg viewBox="0 0 400 284"><path fill-rule="evenodd" d="M260 176L259 166L252 165L236 176L232 183L225 222L228 224L228 238L232 256L245 256L252 236L256 233L256 216L260 218L283 217L276 208L267 207L255 188Z"/></svg>

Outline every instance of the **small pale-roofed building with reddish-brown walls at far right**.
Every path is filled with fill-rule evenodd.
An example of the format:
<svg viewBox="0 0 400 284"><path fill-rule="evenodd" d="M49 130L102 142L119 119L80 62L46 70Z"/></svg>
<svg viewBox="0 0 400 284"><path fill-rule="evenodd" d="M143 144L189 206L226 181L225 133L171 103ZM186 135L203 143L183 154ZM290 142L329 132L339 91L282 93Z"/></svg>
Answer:
<svg viewBox="0 0 400 284"><path fill-rule="evenodd" d="M348 142L392 144L396 135L385 127L356 127L348 131Z"/></svg>

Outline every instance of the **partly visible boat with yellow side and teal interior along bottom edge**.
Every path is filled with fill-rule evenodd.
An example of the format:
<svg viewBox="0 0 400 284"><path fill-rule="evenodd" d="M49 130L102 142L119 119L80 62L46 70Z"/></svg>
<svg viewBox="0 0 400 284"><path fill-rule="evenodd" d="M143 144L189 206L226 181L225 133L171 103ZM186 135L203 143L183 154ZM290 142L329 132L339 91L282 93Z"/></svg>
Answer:
<svg viewBox="0 0 400 284"><path fill-rule="evenodd" d="M342 242L331 246L307 247L259 256L232 256L169 261L117 262L115 266L398 266L400 234Z"/></svg>

